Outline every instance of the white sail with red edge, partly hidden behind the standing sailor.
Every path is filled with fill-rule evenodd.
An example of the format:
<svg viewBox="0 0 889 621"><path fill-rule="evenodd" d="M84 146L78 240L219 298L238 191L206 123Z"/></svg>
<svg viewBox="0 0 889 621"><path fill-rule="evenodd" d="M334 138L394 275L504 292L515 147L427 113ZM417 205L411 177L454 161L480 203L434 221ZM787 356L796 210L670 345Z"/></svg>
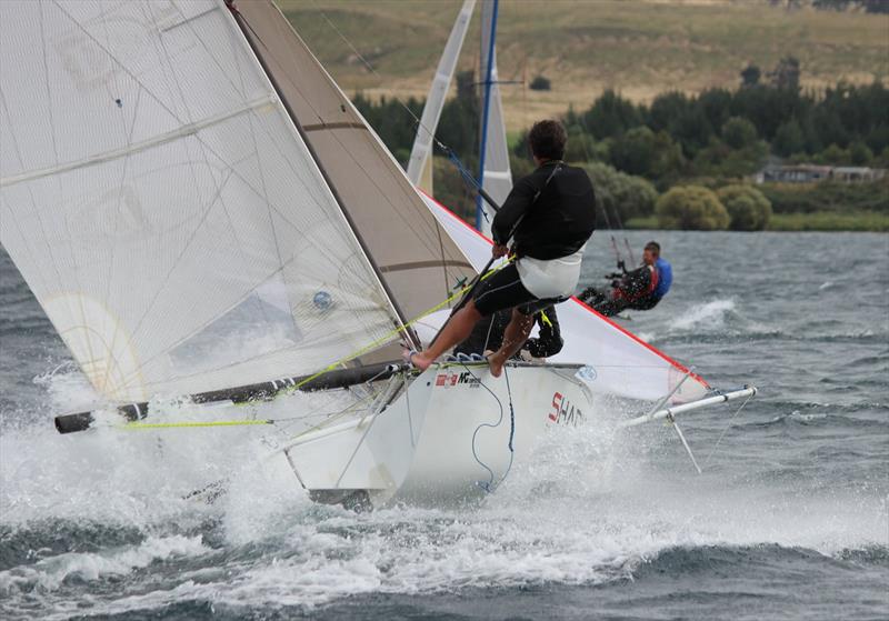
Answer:
<svg viewBox="0 0 889 621"><path fill-rule="evenodd" d="M448 234L477 269L482 269L491 258L491 241L434 200L426 199ZM585 379L597 392L653 401L670 392L689 372L577 298L560 304L558 313L565 347L547 360L587 365ZM700 399L708 390L707 382L692 374L673 394L672 401Z"/></svg>

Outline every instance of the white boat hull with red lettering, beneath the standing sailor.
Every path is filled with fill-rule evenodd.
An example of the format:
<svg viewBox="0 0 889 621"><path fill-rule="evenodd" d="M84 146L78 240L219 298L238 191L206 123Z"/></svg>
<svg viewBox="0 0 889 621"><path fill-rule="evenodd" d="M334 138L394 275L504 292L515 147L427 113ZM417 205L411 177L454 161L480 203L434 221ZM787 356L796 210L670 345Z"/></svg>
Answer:
<svg viewBox="0 0 889 621"><path fill-rule="evenodd" d="M580 424L592 393L578 365L433 367L383 411L314 431L287 449L313 498L366 491L374 504L460 501L492 491L551 424ZM511 404L511 408L510 408Z"/></svg>

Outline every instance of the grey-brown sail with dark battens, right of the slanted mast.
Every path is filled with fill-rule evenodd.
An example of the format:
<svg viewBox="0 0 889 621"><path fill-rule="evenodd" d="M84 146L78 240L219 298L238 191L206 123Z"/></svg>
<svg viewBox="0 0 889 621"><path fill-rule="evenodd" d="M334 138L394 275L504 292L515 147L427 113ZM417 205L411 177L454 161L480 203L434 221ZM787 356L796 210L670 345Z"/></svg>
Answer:
<svg viewBox="0 0 889 621"><path fill-rule="evenodd" d="M476 273L463 252L287 18L267 0L237 8L403 319L440 303Z"/></svg>

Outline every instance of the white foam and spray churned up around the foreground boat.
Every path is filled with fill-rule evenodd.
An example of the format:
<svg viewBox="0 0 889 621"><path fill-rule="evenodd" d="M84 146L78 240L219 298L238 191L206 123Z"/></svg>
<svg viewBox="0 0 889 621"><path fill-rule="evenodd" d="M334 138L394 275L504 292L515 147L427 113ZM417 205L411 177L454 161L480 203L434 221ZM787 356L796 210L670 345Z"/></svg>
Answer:
<svg viewBox="0 0 889 621"><path fill-rule="evenodd" d="M4 525L47 518L127 524L144 540L0 572L6 612L21 613L24 599L37 597L64 617L73 612L61 588L72 580L104 584L137 569L162 573L163 562L189 569L93 597L90 612L212 601L237 613L370 592L595 584L631 578L677 547L776 543L839 554L881 542L886 507L873 494L812 497L756 478L727 485L718 469L693 475L666 430L616 434L607 421L550 430L533 458L478 507L370 514L311 503L282 459L257 459L263 445L249 432L177 432L159 442L158 434L112 429L78 437L13 431L0 439L3 504L12 507ZM233 474L216 505L181 499L223 468ZM210 532L176 534L208 519L218 524ZM213 571L219 562L224 572Z"/></svg>

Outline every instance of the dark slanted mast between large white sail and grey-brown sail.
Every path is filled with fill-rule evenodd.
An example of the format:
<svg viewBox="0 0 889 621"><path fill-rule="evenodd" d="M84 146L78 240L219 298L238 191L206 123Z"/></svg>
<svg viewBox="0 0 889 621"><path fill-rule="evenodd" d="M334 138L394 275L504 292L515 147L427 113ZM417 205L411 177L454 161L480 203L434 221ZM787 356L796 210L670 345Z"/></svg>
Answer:
<svg viewBox="0 0 889 621"><path fill-rule="evenodd" d="M421 347L420 345L420 339L417 337L417 334L413 331L413 329L408 328L406 325L408 323L408 321L409 321L409 318L407 318L404 315L404 312L401 310L396 297L392 294L391 290L389 289L388 284L386 283L386 280L382 278L382 273L380 271L380 268L377 264L377 261L373 259L372 253L369 251L368 246L367 246L367 243L364 242L364 240L363 240L363 238L361 236L361 232L356 227L354 221L350 217L348 210L343 207L343 201L342 201L342 198L341 198L339 191L337 190L337 186L333 183L333 180L330 178L330 176L328 174L327 170L324 169L324 164L321 161L321 159L318 157L318 152L316 151L314 146L309 140L309 137L307 136L306 130L303 129L302 124L300 123L299 119L297 118L297 114L293 112L293 109L290 106L290 102L284 97L282 89L280 88L278 81L276 80L274 76L270 71L264 58L262 57L262 53L259 51L259 49L258 49L258 47L257 47L257 44L254 42L256 33L252 31L252 29L250 28L250 24L247 23L247 20L243 18L241 12L238 10L238 8L236 6L236 0L223 0L223 1L226 3L226 7L231 12L231 16L234 19L234 22L238 24L238 28L240 28L241 33L243 34L244 39L247 40L248 44L250 46L250 49L252 50L253 56L256 57L256 59L259 62L259 64L262 67L262 71L266 73L266 77L268 78L269 82L271 83L272 88L274 89L274 92L280 98L281 103L283 104L284 110L288 113L288 117L290 117L290 120L293 123L293 127L296 128L296 130L299 133L299 136L302 139L302 141L306 143L306 147L308 148L309 153L311 154L312 159L314 160L314 163L318 167L318 170L321 172L321 176L323 177L324 181L327 182L328 188L330 189L330 192L333 194L333 198L334 198L334 200L337 202L337 206L340 209L340 212L342 213L342 217L348 222L349 228L351 229L352 234L354 236L356 240L358 240L358 243L361 247L362 252L364 253L364 258L368 260L368 262L370 263L370 267L373 269L373 274L377 277L377 281L380 284L380 288L386 293L387 301L392 307L392 310L394 311L394 314L398 318L398 324L397 325L401 329L401 331L404 333L406 338L410 341L411 348L419 349Z"/></svg>

